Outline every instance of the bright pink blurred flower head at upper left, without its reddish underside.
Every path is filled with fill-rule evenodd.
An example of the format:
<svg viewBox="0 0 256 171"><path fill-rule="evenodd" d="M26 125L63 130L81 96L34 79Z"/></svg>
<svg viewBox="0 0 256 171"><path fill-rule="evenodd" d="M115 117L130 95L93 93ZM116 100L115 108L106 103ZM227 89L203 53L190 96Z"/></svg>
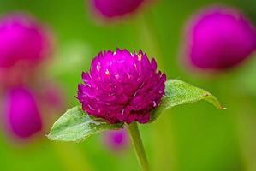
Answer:
<svg viewBox="0 0 256 171"><path fill-rule="evenodd" d="M45 29L27 15L8 15L0 19L0 68L26 62L33 67L49 53Z"/></svg>

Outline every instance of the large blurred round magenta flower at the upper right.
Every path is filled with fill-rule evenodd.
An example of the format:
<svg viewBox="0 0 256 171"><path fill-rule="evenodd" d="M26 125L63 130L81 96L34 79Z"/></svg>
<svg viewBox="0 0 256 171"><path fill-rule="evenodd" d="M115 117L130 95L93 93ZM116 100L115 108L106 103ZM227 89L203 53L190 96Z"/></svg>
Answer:
<svg viewBox="0 0 256 171"><path fill-rule="evenodd" d="M189 24L188 61L196 68L232 68L256 48L255 28L235 9L207 9Z"/></svg>

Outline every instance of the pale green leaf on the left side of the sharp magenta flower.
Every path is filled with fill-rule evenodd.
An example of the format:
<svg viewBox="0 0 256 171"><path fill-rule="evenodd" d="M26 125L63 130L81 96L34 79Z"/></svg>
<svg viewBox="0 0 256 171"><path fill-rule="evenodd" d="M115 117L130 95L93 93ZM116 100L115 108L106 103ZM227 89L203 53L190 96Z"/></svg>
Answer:
<svg viewBox="0 0 256 171"><path fill-rule="evenodd" d="M80 107L68 109L51 127L47 137L54 141L80 142L91 135L105 130L122 128L123 124L110 124L106 121L92 119Z"/></svg>

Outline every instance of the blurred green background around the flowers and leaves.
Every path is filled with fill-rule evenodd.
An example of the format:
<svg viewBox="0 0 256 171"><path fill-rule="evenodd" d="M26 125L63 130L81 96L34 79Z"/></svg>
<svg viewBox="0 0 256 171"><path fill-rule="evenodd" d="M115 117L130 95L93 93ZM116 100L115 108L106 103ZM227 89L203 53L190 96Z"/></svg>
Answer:
<svg viewBox="0 0 256 171"><path fill-rule="evenodd" d="M0 15L27 13L51 30L52 59L40 69L37 80L57 84L54 87L61 91L64 103L52 114L42 111L44 133L37 139L13 139L1 130L0 169L140 170L129 145L112 150L102 135L80 144L54 143L45 137L59 115L79 104L74 97L77 84L93 56L119 47L146 51L156 57L168 78L203 87L227 107L217 110L205 102L188 104L164 112L152 124L140 125L152 170L256 171L256 56L217 75L193 73L181 62L188 18L216 4L240 9L256 22L255 0L158 0L119 21L98 19L84 0L0 0Z"/></svg>

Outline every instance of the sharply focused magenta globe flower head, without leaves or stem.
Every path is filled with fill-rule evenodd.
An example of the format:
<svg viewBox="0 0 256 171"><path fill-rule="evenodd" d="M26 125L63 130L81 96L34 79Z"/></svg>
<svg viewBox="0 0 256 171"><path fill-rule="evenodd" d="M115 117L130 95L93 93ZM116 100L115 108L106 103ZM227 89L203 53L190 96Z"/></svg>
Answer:
<svg viewBox="0 0 256 171"><path fill-rule="evenodd" d="M82 79L77 97L88 115L128 124L150 120L150 111L164 95L166 81L155 59L150 62L141 50L136 54L119 49L100 52Z"/></svg>

